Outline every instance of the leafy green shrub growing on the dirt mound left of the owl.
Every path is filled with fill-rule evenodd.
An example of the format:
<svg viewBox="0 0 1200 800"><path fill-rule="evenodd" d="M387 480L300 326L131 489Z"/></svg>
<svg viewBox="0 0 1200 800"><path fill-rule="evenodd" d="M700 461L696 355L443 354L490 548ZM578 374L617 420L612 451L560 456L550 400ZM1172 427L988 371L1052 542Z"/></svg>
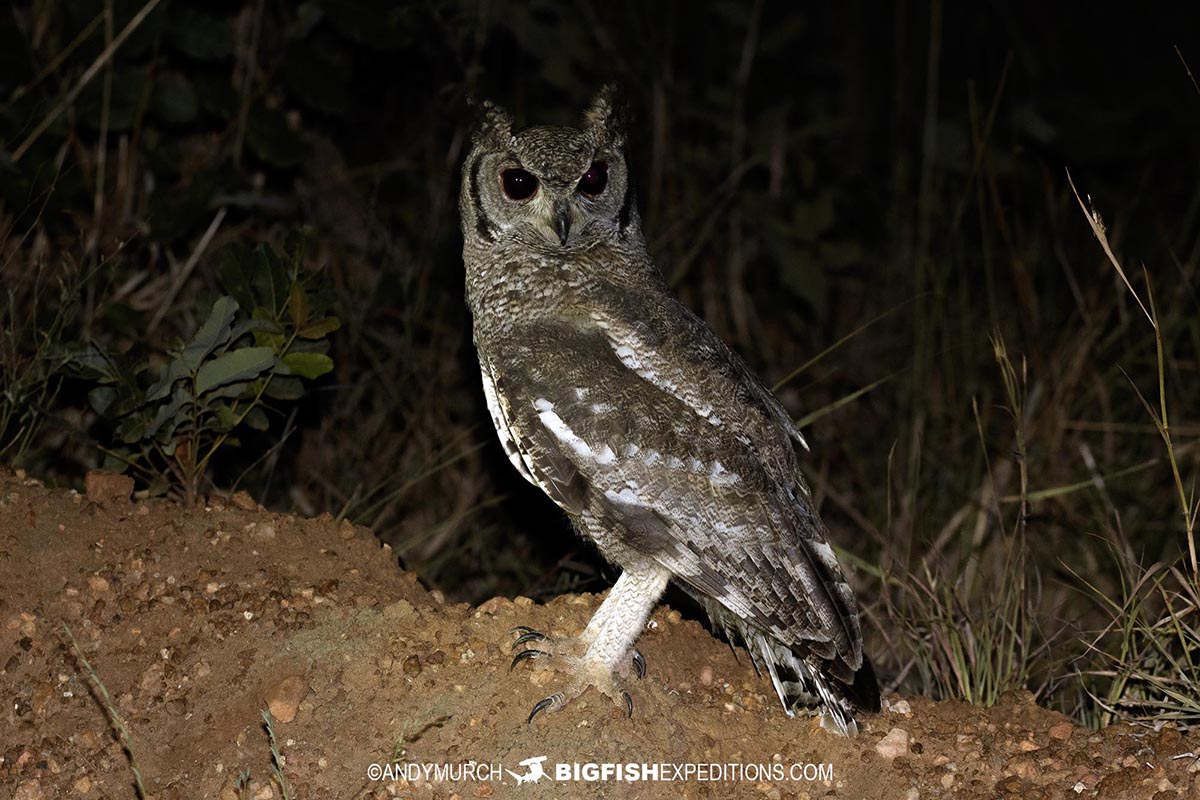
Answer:
<svg viewBox="0 0 1200 800"><path fill-rule="evenodd" d="M173 489L194 503L223 447L241 428L266 431L275 403L304 396L305 381L334 368L329 335L340 326L319 275L301 269L302 248L287 259L266 245L226 252L208 318L179 342L157 379L146 363L88 344L71 354L77 374L95 380L88 399L112 427L106 467L132 469L150 489Z"/></svg>

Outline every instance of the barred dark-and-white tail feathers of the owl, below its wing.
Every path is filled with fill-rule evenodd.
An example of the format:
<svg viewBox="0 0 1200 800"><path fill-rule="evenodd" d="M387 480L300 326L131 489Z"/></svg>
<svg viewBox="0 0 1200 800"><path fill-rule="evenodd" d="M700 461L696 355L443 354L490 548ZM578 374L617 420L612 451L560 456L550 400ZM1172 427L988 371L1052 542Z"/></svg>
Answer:
<svg viewBox="0 0 1200 800"><path fill-rule="evenodd" d="M844 736L858 733L854 711L880 710L880 684L866 654L852 670L840 660L826 660L786 645L770 633L732 618L719 603L703 601L713 626L731 642L743 644L755 669L770 675L779 702L787 716L799 708L820 708L821 727Z"/></svg>

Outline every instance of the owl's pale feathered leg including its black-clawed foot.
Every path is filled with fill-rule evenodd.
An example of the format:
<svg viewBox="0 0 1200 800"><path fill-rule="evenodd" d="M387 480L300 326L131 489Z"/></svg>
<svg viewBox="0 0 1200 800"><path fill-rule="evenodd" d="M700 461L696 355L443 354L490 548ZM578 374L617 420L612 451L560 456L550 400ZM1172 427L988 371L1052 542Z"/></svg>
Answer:
<svg viewBox="0 0 1200 800"><path fill-rule="evenodd" d="M654 561L626 565L578 639L550 642L536 631L518 628L523 632L517 637L517 643L536 644L518 652L514 664L527 658L556 655L560 656L563 666L571 673L571 682L566 688L534 705L529 714L530 722L541 711L563 708L588 686L607 694L626 714L632 715L634 699L625 691L622 679L628 676L630 663L638 676L646 673L646 660L640 652L634 650L632 660L628 657L670 577L671 573ZM578 655L580 651L582 655Z"/></svg>

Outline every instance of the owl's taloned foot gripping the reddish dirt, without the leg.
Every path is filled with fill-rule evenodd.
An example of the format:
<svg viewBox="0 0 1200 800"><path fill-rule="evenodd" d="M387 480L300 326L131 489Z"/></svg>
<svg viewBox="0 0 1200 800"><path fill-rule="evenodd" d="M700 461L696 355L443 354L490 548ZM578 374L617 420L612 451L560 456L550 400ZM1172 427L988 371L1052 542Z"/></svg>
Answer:
<svg viewBox="0 0 1200 800"><path fill-rule="evenodd" d="M588 643L583 639L553 639L526 626L517 627L514 632L518 633L512 643L514 648L530 646L512 657L509 669L522 661L529 661L535 664L535 668L556 669L571 675L570 682L563 691L554 692L534 704L527 722L533 722L534 717L542 711L557 711L564 708L589 686L624 709L625 716L634 715L634 697L625 690L624 679L629 676L630 666L638 679L646 676L646 658L636 649L632 650L632 657L628 664L613 670L602 660L588 657Z"/></svg>

